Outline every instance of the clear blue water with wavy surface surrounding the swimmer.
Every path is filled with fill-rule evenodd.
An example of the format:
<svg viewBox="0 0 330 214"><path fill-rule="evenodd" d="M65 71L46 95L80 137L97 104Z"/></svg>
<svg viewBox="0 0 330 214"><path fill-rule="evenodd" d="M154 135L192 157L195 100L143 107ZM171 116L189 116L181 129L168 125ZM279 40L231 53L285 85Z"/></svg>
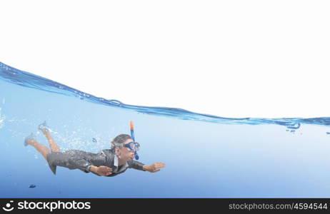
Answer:
<svg viewBox="0 0 330 214"><path fill-rule="evenodd" d="M48 146L37 129L44 121L62 151L94 153L129 134L134 121L139 161L166 168L108 178L58 167L54 175L23 146L31 132ZM0 63L0 197L329 198L329 126L329 117L224 118L132 106Z"/></svg>

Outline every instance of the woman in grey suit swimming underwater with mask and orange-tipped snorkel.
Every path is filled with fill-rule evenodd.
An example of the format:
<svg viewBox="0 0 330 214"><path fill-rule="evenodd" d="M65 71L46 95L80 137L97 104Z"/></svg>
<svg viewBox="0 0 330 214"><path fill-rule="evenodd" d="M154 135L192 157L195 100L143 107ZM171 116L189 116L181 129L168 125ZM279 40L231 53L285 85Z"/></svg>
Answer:
<svg viewBox="0 0 330 214"><path fill-rule="evenodd" d="M89 153L80 150L69 150L61 152L51 136L50 129L46 126L46 121L38 126L39 130L46 136L50 150L46 146L36 141L33 133L27 136L24 146L33 146L49 163L51 171L56 174L56 166L65 168L80 169L85 173L94 173L95 175L115 176L124 173L127 168L136 170L149 171L151 173L158 172L160 168L164 168L164 163L153 163L145 165L139 161L136 151L139 150L139 143L134 142L133 124L131 123L131 136L120 134L111 141L111 149L104 149L99 153Z"/></svg>

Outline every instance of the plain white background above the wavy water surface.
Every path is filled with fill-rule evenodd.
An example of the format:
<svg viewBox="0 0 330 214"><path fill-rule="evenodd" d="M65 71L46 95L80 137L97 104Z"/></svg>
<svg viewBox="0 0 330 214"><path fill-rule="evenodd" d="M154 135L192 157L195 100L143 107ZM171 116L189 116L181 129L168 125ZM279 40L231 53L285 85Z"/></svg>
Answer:
<svg viewBox="0 0 330 214"><path fill-rule="evenodd" d="M94 96L329 116L329 1L1 1L0 61Z"/></svg>

